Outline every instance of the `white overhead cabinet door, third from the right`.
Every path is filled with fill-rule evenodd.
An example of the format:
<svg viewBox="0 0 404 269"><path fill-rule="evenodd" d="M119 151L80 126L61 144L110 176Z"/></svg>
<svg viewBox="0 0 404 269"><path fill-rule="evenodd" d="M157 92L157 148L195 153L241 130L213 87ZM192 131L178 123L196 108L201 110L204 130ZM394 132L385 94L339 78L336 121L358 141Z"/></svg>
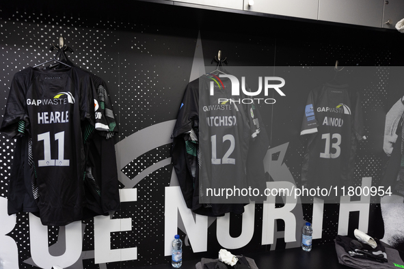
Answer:
<svg viewBox="0 0 404 269"><path fill-rule="evenodd" d="M244 10L317 20L319 0L244 0Z"/></svg>

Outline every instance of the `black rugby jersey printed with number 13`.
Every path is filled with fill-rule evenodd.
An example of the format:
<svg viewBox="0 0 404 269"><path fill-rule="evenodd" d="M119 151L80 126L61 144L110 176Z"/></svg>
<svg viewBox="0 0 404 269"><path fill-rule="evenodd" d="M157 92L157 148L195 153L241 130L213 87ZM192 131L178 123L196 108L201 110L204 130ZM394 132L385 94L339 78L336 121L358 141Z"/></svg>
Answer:
<svg viewBox="0 0 404 269"><path fill-rule="evenodd" d="M301 135L310 135L304 163L302 184L308 188L351 186L355 152L364 138L364 123L358 91L348 85L325 83L310 91L306 102Z"/></svg>

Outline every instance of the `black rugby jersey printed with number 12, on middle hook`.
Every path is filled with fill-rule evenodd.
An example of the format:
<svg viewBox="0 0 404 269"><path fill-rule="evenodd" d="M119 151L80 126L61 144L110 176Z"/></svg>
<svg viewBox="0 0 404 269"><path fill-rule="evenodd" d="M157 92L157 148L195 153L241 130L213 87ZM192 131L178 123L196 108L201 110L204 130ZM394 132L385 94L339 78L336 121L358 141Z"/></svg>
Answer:
<svg viewBox="0 0 404 269"><path fill-rule="evenodd" d="M232 96L229 79L215 83L212 96L211 82L213 79L204 75L187 85L174 127L172 160L187 206L193 212L210 216L242 213L248 195L224 200L225 195L212 195L207 188L217 194L222 188L265 186L262 158L269 142L265 130L260 129L254 104L238 102L245 96ZM257 145L262 143L254 147L258 158L249 154L254 139ZM249 180L252 174L258 183Z"/></svg>

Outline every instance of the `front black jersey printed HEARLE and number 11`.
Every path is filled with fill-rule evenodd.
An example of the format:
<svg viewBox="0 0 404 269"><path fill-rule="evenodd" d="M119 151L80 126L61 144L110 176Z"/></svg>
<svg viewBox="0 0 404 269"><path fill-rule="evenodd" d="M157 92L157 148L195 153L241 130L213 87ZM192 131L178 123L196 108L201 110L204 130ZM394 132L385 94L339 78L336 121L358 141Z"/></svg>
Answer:
<svg viewBox="0 0 404 269"><path fill-rule="evenodd" d="M90 74L79 68L26 68L14 75L0 131L27 137L32 193L44 225L83 217L85 142L94 128L111 131L94 111L98 101Z"/></svg>

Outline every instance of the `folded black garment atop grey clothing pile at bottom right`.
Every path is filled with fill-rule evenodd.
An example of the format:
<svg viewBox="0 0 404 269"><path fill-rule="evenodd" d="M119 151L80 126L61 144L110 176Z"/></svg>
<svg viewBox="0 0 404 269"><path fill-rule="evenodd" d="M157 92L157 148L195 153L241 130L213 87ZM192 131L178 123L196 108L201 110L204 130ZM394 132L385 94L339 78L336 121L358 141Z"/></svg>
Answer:
<svg viewBox="0 0 404 269"><path fill-rule="evenodd" d="M375 239L375 241L377 242L377 247L373 249L368 244L362 244L358 240L349 238L348 236L337 236L335 240L336 244L342 246L351 257L369 259L381 263L387 262L386 249L379 240Z"/></svg>

